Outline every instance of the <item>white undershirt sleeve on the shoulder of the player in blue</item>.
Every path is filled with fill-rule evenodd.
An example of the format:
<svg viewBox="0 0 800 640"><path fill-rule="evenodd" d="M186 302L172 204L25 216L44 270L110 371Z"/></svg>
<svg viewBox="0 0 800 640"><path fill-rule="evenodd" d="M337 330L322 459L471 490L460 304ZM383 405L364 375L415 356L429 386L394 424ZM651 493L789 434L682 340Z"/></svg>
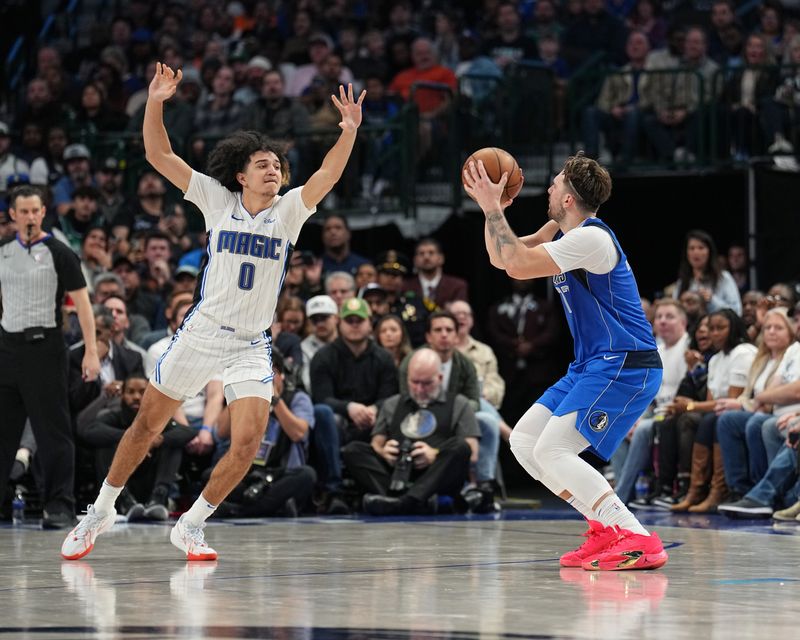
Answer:
<svg viewBox="0 0 800 640"><path fill-rule="evenodd" d="M608 231L595 225L570 229L558 240L541 245L561 269L586 269L589 273L608 273L617 266L619 253Z"/></svg>

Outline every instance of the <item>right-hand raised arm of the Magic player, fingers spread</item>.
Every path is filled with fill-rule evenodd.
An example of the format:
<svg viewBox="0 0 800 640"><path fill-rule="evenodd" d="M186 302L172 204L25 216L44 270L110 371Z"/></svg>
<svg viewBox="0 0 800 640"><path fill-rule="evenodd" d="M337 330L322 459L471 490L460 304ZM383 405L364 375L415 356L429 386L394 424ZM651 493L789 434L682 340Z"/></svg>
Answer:
<svg viewBox="0 0 800 640"><path fill-rule="evenodd" d="M342 121L339 123L342 133L339 135L336 144L325 155L320 168L314 172L303 186L301 197L303 198L303 204L307 208L316 207L328 195L328 192L333 189L333 186L339 182L339 178L342 177L347 160L353 151L356 132L361 125L361 103L364 102L364 96L366 95L367 92L362 91L361 95L358 96L358 101L356 101L353 98L353 85L349 84L347 85L347 93L345 93L344 87L339 85L339 97L331 96L333 104L342 114Z"/></svg>

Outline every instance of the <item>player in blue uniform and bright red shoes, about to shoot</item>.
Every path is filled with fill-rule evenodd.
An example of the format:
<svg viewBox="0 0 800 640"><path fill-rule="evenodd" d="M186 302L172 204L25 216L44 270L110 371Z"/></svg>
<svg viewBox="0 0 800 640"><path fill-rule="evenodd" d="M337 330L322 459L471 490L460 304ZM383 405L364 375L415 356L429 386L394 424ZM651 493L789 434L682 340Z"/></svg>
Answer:
<svg viewBox="0 0 800 640"><path fill-rule="evenodd" d="M511 450L525 470L589 521L586 542L565 567L655 569L667 561L606 479L579 454L608 460L661 383L661 359L636 280L614 233L597 218L611 178L595 160L569 158L548 190L550 220L518 238L500 203L508 175L493 183L482 162L464 171L467 193L486 215L489 259L512 278L552 276L575 342L567 374L525 413Z"/></svg>

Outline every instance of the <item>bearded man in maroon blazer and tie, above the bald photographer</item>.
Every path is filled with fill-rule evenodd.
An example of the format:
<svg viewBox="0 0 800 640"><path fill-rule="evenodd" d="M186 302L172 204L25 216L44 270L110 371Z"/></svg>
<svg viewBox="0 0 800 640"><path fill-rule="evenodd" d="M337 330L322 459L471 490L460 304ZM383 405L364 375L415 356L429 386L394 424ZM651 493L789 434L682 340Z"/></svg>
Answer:
<svg viewBox="0 0 800 640"><path fill-rule="evenodd" d="M444 253L442 245L433 238L423 238L414 250L416 274L406 281L406 289L419 296L428 311L444 309L448 302L467 301L467 283L442 271Z"/></svg>

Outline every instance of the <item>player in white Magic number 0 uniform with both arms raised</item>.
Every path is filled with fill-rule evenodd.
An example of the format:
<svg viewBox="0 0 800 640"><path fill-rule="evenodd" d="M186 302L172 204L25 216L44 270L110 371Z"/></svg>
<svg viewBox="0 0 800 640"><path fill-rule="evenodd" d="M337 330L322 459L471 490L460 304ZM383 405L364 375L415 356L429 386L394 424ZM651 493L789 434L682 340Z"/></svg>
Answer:
<svg viewBox="0 0 800 640"><path fill-rule="evenodd" d="M88 554L96 537L111 528L117 497L169 418L222 372L231 447L170 535L188 560L216 559L203 527L250 468L267 424L273 395L269 326L289 257L303 223L341 177L361 124L366 92L356 100L352 85L346 91L340 87L339 97L331 96L341 115L339 139L304 186L279 196L288 182L288 163L257 132L240 131L221 140L208 159L210 175L175 155L164 128L163 103L175 94L181 77L180 70L156 65L145 107L144 146L150 164L203 213L206 263L195 304L159 359L97 500L61 547L67 560Z"/></svg>

